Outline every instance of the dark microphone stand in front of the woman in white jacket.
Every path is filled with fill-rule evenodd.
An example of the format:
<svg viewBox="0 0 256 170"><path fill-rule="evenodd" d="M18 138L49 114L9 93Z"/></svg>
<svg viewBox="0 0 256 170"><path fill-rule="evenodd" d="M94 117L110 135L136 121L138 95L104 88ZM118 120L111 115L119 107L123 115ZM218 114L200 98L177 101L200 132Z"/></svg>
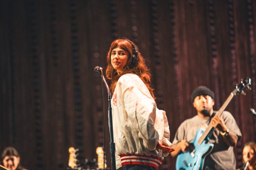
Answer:
<svg viewBox="0 0 256 170"><path fill-rule="evenodd" d="M107 92L108 92L108 101L109 101L109 134L110 134L110 156L111 156L111 163L112 163L112 170L116 170L116 147L114 143L114 135L113 135L113 121L112 121L112 107L111 107L111 93L109 86L107 85L106 79L102 73L102 69L100 70L100 76L102 77L103 82L106 85Z"/></svg>

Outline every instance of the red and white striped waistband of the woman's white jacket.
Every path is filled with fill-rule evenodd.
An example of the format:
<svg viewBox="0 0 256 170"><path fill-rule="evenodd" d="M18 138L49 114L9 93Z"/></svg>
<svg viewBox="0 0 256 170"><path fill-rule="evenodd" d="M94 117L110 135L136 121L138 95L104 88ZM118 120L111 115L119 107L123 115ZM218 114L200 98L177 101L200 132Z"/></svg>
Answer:
<svg viewBox="0 0 256 170"><path fill-rule="evenodd" d="M153 166L158 169L158 166L161 165L163 160L156 156L147 156L147 155L137 155L137 154L121 154L121 165L147 165Z"/></svg>

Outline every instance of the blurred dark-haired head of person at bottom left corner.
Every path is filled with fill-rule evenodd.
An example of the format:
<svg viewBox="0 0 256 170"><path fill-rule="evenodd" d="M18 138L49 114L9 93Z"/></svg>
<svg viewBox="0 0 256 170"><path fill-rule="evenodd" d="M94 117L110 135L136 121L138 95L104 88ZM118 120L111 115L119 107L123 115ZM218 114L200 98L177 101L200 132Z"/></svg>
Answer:
<svg viewBox="0 0 256 170"><path fill-rule="evenodd" d="M1 154L0 163L9 170L19 168L20 156L14 147L6 147Z"/></svg>

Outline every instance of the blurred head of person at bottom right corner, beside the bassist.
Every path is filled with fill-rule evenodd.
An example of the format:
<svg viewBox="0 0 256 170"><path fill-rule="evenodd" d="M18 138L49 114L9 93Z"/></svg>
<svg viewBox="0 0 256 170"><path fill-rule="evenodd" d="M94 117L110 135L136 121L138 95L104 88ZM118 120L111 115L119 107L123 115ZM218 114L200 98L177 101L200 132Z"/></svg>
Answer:
<svg viewBox="0 0 256 170"><path fill-rule="evenodd" d="M255 142L248 142L244 144L243 148L243 163L249 161L249 168L256 170L256 143ZM251 167L250 167L251 166Z"/></svg>

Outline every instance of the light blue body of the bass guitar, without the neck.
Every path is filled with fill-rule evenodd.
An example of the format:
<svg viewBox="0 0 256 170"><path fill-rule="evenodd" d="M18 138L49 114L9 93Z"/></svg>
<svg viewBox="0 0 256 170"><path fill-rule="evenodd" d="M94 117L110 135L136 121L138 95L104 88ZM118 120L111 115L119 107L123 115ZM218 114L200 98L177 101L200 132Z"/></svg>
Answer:
<svg viewBox="0 0 256 170"><path fill-rule="evenodd" d="M176 170L202 170L204 166L204 158L211 153L213 144L208 143L209 138L199 144L198 140L204 133L203 128L197 130L194 141L190 143L190 150L182 152L176 160Z"/></svg>

